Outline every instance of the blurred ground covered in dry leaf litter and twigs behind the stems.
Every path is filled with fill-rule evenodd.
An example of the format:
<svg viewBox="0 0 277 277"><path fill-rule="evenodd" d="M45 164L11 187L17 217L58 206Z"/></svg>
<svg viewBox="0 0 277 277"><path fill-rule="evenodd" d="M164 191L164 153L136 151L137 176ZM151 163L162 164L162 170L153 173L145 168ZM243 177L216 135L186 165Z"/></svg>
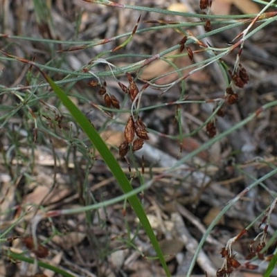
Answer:
<svg viewBox="0 0 277 277"><path fill-rule="evenodd" d="M120 1L132 2L139 6L152 6L168 8L169 1ZM198 2L198 1L196 1ZM122 8L98 6L84 1L47 1L51 5L52 29L46 28L43 23L39 26L35 18L33 1L5 1L1 0L1 32L8 35L24 37L43 37L60 40L93 40L114 37L132 32L141 12ZM195 8L191 6L191 8ZM199 12L199 11L197 11ZM240 10L232 7L231 13L240 14ZM79 25L76 24L80 15ZM150 26L146 20L182 20L181 17L165 17L159 14L142 12L139 28ZM76 32L76 30L79 32ZM214 46L226 45L240 33L240 28L226 31L211 37ZM197 33L197 28L192 29ZM241 122L249 114L255 112L262 105L276 99L277 91L277 52L276 52L276 24L270 24L260 30L260 33L251 37L244 46L242 64L247 69L250 82L238 91L240 100L235 105L224 106L225 116L217 119L217 134L224 132L231 126ZM135 35L120 53L154 55L170 46L178 44L181 36L173 29L151 31ZM123 40L119 40L123 42ZM36 53L36 62L59 66L65 70L77 70L87 64L93 57L105 50L118 46L118 41L102 44L83 51L57 53L59 46L47 46L39 41L24 39L8 39L0 37L0 48L19 57L32 58ZM53 49L55 51L53 52ZM236 53L224 57L224 62L232 66ZM202 55L195 59L203 59ZM111 60L113 62L113 60ZM134 62L134 57L120 58L115 61L117 65L127 65ZM177 65L189 62L177 60ZM3 73L0 84L3 87L17 87L26 85L28 66L15 62L0 60ZM164 66L164 67L163 67ZM99 66L104 70L106 66ZM161 71L158 71L161 70ZM158 72L155 72L158 71ZM144 79L151 79L170 71L166 64L153 67L145 71ZM225 85L217 72L216 66L210 66L196 73L186 81L186 98L190 100L208 100L223 97ZM63 78L62 73L52 74L55 80ZM172 82L176 75L167 75L158 81L159 84ZM120 91L113 78L107 78L107 85L120 102L123 92ZM124 76L121 82L127 84ZM110 124L101 111L93 109L89 101L96 105L104 105L97 89L93 90L87 85L88 80L80 80L72 87L64 85L63 89L80 93L76 100L84 114L91 119L102 132L108 143L118 147L123 141L123 125L117 127ZM139 86L143 83L139 82ZM4 89L1 87L1 91ZM166 93L157 89L148 89L143 94L141 106L161 105L175 102L179 99L181 87L172 87ZM6 93L0 95L1 107L11 105L16 98L10 98ZM47 98L48 104L58 105L56 98ZM47 114L47 109L42 105ZM199 148L208 141L205 129L197 134L179 141L179 125L177 124L177 108L181 113L181 127L185 133L190 133L201 125L211 114L213 105L206 103L191 105L166 105L158 109L143 111L141 117L150 129L150 141L143 149L137 152L137 162L144 163L145 180L159 175L169 168L181 157ZM61 111L66 114L64 109ZM5 111L0 111L1 116ZM30 234L30 226L35 224L33 218L35 211L31 205L43 206L44 211L61 210L80 207L96 202L102 202L121 195L118 184L114 181L105 163L98 158L89 165L82 153L75 149L69 151L69 145L57 135L60 131L51 126L51 120L43 114L41 131L37 143L33 143L33 152L30 151L30 141L33 132L27 130L30 118L19 111L10 118L3 129L0 130L0 231L6 230L12 222L26 215L6 235L6 238L19 236L19 239L2 245L0 253L0 276L19 277L31 276L32 266L25 262L11 261L6 251L11 247L13 251L26 251L22 238ZM124 122L128 115L120 115ZM3 123L0 121L0 123ZM104 126L104 127L103 127ZM44 128L53 127L53 136L50 133L44 137ZM67 125L69 129L69 123ZM161 248L168 254L168 266L172 275L186 276L195 249L205 233L209 224L222 208L238 193L251 184L251 177L258 179L276 165L277 155L277 109L268 109L264 114L257 116L244 127L233 132L222 141L215 143L208 150L200 152L188 163L186 170L177 170L172 175L155 182L149 190L141 195L145 211L157 234ZM80 134L82 137L82 134ZM85 141L85 137L84 142ZM20 142L20 143L19 143ZM16 145L13 147L13 145ZM24 145L28 145L28 148ZM181 150L180 150L181 145ZM118 157L117 150L113 150ZM144 157L144 161L142 160ZM263 159L266 163L260 163ZM129 165L124 159L120 164L130 177L135 177L132 161ZM244 170L244 174L242 171ZM247 173L245 173L247 172ZM249 175L247 177L247 175ZM86 184L86 186L84 186ZM134 187L139 181L134 178ZM265 186L272 191L277 190L276 177L265 181ZM84 188L87 191L84 191ZM195 276L214 276L215 271L221 267L222 258L220 250L229 238L238 235L271 203L272 199L266 190L257 187L245 195L240 202L234 204L208 236L202 249L197 265L193 271ZM36 211L39 215L41 210ZM253 224L244 237L235 244L236 258L244 260L249 253L249 244L260 232L258 224L261 218ZM276 213L272 214L269 227L269 237L277 227ZM154 251L149 244L144 231L139 227L134 212L127 205L115 204L97 211L62 215L51 220L43 219L37 225L39 241L46 242L49 255L44 260L57 267L68 270L73 276L163 276L163 269L159 262L149 257ZM272 244L269 253L274 249ZM26 251L26 255L33 255ZM260 265L255 271L236 272L236 276L258 276L265 271L267 263ZM40 268L42 269L42 268ZM53 276L52 271L44 271L48 277ZM58 275L55 275L58 276ZM276 272L274 275L277 276Z"/></svg>

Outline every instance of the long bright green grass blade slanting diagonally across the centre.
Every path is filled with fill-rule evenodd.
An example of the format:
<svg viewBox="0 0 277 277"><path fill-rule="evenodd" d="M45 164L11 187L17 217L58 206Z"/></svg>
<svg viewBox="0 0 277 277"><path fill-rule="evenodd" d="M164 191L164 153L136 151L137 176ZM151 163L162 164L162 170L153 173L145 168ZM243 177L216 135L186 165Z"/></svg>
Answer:
<svg viewBox="0 0 277 277"><path fill-rule="evenodd" d="M89 137L91 143L96 147L100 155L102 156L102 159L105 161L109 169L111 170L112 174L116 178L116 181L118 181L118 184L120 185L120 188L123 190L123 193L129 193L133 190L131 184L129 183L129 180L125 176L125 173L120 168L118 161L114 158L114 155L110 152L109 148L107 148L107 145L105 141L102 140L96 129L91 125L89 120L87 119L84 114L82 114L82 111L76 107L76 105L69 99L68 96L66 96L66 93L60 87L53 82L53 80L44 74L44 78L46 78L47 82L50 84L51 88L57 96L62 101L63 105L69 110L73 118L78 122L80 127L84 130L84 132ZM163 258L163 253L161 252L161 249L159 247L159 243L157 241L156 236L154 235L153 229L150 225L150 222L148 220L148 217L145 214L145 211L143 209L143 206L141 205L141 202L139 201L139 198L136 195L133 195L128 198L129 203L131 204L132 208L134 208L134 211L139 218L139 221L141 222L141 225L143 226L143 229L145 229L145 232L148 235L148 238L150 239L157 256L159 257L159 260L161 262L161 265L163 266L163 269L166 271L166 276L170 276L170 272L168 271L168 267L166 265L166 260Z"/></svg>

